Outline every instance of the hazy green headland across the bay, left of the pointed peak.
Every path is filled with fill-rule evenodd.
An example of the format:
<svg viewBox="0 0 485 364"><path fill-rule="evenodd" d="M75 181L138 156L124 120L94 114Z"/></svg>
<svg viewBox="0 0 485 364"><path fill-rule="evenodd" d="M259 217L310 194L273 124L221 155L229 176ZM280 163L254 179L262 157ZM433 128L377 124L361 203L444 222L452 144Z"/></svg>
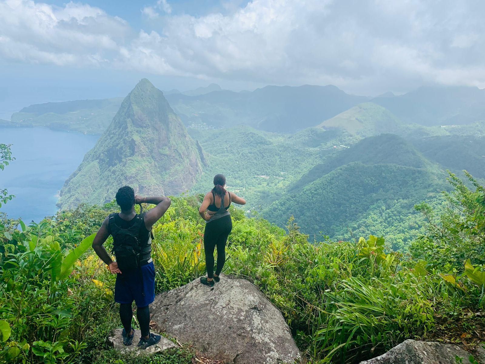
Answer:
<svg viewBox="0 0 485 364"><path fill-rule="evenodd" d="M54 130L101 134L118 111L122 98L48 102L24 107L0 126L48 127Z"/></svg>

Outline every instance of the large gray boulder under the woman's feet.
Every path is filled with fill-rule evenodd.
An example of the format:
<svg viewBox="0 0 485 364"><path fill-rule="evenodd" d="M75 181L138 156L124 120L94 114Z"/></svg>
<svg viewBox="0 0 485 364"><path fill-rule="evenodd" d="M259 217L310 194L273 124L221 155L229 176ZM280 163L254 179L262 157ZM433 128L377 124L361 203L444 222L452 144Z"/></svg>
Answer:
<svg viewBox="0 0 485 364"><path fill-rule="evenodd" d="M301 359L279 310L243 279L221 274L214 287L197 279L158 295L150 312L168 335L223 363L282 364Z"/></svg>

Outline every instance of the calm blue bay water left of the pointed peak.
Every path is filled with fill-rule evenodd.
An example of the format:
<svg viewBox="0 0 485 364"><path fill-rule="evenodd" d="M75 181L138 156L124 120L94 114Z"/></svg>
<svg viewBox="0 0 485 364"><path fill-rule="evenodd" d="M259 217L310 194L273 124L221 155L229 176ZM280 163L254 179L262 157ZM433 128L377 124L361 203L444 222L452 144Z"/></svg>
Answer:
<svg viewBox="0 0 485 364"><path fill-rule="evenodd" d="M0 128L0 143L12 144L16 158L0 171L0 188L16 196L2 205L0 212L25 222L54 215L65 180L98 137L48 128Z"/></svg>

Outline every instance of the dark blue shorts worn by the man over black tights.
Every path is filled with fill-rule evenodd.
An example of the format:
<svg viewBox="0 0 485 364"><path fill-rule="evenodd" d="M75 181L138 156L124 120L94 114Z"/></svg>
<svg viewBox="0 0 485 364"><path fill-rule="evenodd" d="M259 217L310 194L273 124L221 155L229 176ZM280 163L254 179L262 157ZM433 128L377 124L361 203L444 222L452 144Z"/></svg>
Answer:
<svg viewBox="0 0 485 364"><path fill-rule="evenodd" d="M145 307L155 299L155 266L153 262L141 266L132 272L116 275L114 301L133 303Z"/></svg>

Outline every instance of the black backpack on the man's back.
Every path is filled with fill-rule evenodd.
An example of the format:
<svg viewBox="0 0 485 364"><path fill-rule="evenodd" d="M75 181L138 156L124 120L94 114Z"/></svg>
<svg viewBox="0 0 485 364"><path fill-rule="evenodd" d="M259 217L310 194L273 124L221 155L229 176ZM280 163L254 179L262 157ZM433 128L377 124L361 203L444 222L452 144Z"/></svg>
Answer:
<svg viewBox="0 0 485 364"><path fill-rule="evenodd" d="M116 263L120 270L133 270L140 267L140 252L142 250L141 242L139 241L140 228L144 223L145 214L137 214L134 219L135 222L128 229L120 228L116 225L114 216L109 216L109 229L113 236L113 250L116 256Z"/></svg>

